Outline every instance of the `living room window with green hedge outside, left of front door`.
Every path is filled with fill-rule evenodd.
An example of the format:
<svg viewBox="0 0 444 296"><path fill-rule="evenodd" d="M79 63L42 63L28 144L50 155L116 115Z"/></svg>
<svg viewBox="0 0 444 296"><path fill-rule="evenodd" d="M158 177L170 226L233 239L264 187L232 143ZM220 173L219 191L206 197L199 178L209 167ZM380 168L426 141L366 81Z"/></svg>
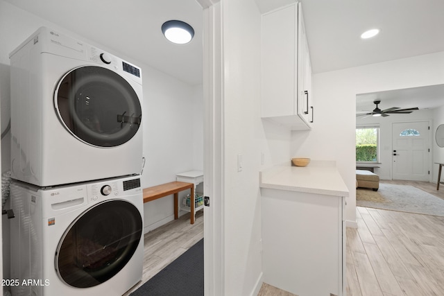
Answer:
<svg viewBox="0 0 444 296"><path fill-rule="evenodd" d="M356 161L378 162L379 127L356 128Z"/></svg>

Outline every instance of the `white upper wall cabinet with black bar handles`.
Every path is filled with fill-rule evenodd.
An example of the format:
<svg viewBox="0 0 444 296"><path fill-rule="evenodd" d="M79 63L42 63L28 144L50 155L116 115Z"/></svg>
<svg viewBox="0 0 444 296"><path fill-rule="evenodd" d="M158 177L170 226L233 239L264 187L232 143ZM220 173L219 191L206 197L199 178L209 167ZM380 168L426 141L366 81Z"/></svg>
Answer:
<svg viewBox="0 0 444 296"><path fill-rule="evenodd" d="M300 3L262 15L261 98L262 118L311 129L311 64Z"/></svg>

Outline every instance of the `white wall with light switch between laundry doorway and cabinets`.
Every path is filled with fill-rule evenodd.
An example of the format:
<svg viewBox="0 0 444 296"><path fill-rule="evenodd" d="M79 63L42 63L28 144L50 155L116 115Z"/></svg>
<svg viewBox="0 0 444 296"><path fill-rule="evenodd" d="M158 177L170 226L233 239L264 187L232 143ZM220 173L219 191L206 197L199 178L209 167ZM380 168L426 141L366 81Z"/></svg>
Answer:
<svg viewBox="0 0 444 296"><path fill-rule="evenodd" d="M222 0L225 295L262 284L259 170L289 159L290 133L260 119L260 14L254 0ZM264 165L262 165L264 153ZM242 171L237 169L242 155Z"/></svg>

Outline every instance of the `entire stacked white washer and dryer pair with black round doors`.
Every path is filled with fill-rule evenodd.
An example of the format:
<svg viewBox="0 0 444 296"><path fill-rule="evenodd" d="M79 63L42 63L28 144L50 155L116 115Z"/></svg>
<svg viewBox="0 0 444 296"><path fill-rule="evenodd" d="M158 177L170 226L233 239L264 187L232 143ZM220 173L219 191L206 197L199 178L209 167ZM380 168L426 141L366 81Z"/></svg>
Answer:
<svg viewBox="0 0 444 296"><path fill-rule="evenodd" d="M12 295L142 279L142 71L49 28L10 54Z"/></svg>

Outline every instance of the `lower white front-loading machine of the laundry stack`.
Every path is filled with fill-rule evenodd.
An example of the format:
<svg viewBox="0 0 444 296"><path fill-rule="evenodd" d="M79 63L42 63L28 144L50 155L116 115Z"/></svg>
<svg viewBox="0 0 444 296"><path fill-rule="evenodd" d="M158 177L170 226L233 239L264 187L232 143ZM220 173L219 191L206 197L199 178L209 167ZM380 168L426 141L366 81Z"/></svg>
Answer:
<svg viewBox="0 0 444 296"><path fill-rule="evenodd" d="M142 279L139 177L42 189L12 182L12 295L123 295Z"/></svg>

